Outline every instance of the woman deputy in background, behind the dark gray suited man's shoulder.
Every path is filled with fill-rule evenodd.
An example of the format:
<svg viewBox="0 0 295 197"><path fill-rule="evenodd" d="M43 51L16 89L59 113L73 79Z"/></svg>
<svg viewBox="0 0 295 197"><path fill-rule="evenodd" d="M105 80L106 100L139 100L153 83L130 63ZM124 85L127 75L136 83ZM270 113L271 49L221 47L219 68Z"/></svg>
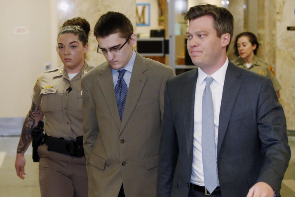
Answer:
<svg viewBox="0 0 295 197"><path fill-rule="evenodd" d="M257 37L251 32L242 32L235 38L234 50L235 55L239 56L233 63L239 67L259 73L271 79L273 87L276 90L277 97L280 97L281 85L275 77L273 67L268 65L262 59L256 57L259 47Z"/></svg>

